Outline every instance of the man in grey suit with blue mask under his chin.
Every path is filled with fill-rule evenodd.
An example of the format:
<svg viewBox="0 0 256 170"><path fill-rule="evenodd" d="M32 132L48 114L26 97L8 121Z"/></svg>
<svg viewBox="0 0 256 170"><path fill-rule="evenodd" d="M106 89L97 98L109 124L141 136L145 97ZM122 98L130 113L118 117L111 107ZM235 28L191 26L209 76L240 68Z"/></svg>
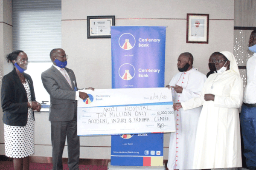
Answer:
<svg viewBox="0 0 256 170"><path fill-rule="evenodd" d="M53 170L62 170L62 153L67 136L68 166L79 170L79 136L77 136L77 100L87 99L84 92L76 91L74 72L66 68L67 58L61 48L50 52L52 67L41 74L44 88L50 95ZM87 88L94 90L94 88Z"/></svg>

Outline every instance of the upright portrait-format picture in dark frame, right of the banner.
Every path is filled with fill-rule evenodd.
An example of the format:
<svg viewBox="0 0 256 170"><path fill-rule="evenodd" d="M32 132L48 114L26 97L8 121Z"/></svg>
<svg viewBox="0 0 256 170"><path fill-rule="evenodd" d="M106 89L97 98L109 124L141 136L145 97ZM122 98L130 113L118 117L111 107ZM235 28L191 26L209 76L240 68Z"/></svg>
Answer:
<svg viewBox="0 0 256 170"><path fill-rule="evenodd" d="M209 14L187 14L187 43L208 44Z"/></svg>

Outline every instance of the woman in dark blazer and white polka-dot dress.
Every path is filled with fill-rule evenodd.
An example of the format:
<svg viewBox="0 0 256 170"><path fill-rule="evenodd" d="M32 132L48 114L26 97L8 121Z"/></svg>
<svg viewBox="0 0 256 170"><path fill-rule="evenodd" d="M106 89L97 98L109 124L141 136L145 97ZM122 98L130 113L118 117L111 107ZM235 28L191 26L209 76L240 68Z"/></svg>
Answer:
<svg viewBox="0 0 256 170"><path fill-rule="evenodd" d="M15 66L2 79L1 104L3 108L6 156L13 158L15 170L29 170L29 156L34 154L34 111L40 111L35 101L33 81L23 73L28 57L23 51L6 56Z"/></svg>

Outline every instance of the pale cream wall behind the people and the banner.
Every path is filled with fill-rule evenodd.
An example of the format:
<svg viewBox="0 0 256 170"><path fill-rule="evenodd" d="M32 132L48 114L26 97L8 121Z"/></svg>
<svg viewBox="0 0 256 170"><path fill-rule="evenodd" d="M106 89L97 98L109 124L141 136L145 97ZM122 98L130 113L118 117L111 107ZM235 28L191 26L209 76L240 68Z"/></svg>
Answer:
<svg viewBox="0 0 256 170"><path fill-rule="evenodd" d="M69 55L67 67L75 72L78 88L111 88L111 39L87 39L87 16L115 15L116 26L167 26L165 85L177 73L180 53L191 52L194 66L207 74L210 54L233 52L233 0L215 0L214 3L207 0L62 0L61 11L62 48ZM187 13L209 14L209 44L186 43ZM0 23L0 50L3 49L3 27ZM6 65L3 62L0 56L1 73L2 66ZM2 112L0 114L2 117ZM50 157L48 113L35 113L35 119L35 156ZM3 143L1 123L0 126L0 143ZM80 158L110 159L110 136L81 137L80 143ZM0 155L4 154L2 145ZM168 159L168 147L169 134L166 133L164 159ZM67 157L66 148L64 157Z"/></svg>

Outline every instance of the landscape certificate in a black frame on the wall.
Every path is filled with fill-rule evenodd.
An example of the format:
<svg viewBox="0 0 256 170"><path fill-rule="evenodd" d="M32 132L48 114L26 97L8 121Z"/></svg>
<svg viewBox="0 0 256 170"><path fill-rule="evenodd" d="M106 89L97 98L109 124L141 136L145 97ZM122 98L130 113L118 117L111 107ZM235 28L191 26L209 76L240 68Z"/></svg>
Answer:
<svg viewBox="0 0 256 170"><path fill-rule="evenodd" d="M115 16L87 16L87 38L111 38Z"/></svg>

